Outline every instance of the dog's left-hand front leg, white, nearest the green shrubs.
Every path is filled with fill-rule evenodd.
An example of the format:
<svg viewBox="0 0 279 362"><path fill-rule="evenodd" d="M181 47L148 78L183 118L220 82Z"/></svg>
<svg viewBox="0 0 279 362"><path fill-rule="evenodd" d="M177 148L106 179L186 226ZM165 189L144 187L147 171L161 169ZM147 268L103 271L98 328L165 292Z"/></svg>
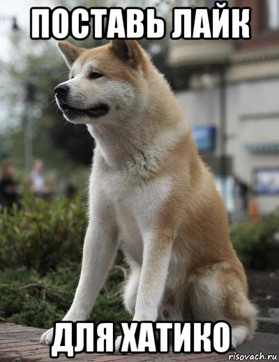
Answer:
<svg viewBox="0 0 279 362"><path fill-rule="evenodd" d="M100 200L100 202L98 202ZM82 271L75 298L63 321L84 321L89 318L93 303L103 287L116 252L116 227L112 208L100 195L94 195L89 227L84 239ZM43 333L40 343L50 345L53 330Z"/></svg>

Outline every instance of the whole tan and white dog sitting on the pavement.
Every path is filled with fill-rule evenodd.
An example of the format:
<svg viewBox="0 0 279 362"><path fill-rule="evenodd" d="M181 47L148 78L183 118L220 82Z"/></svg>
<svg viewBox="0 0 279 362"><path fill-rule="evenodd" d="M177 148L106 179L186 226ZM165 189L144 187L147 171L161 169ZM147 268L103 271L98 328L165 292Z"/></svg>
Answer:
<svg viewBox="0 0 279 362"><path fill-rule="evenodd" d="M96 139L80 282L63 320L89 318L119 247L133 320L225 319L232 347L250 340L256 310L226 211L163 75L135 40L58 46L70 79L56 101ZM52 329L41 342L52 342Z"/></svg>

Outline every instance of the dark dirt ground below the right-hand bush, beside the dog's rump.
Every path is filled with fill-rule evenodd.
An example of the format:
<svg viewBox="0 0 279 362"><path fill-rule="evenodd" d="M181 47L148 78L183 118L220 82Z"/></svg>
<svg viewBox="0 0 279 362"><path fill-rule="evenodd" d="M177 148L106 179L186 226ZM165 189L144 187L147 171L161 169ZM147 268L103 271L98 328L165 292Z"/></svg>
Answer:
<svg viewBox="0 0 279 362"><path fill-rule="evenodd" d="M250 299L260 310L279 308L279 270L247 270Z"/></svg>

